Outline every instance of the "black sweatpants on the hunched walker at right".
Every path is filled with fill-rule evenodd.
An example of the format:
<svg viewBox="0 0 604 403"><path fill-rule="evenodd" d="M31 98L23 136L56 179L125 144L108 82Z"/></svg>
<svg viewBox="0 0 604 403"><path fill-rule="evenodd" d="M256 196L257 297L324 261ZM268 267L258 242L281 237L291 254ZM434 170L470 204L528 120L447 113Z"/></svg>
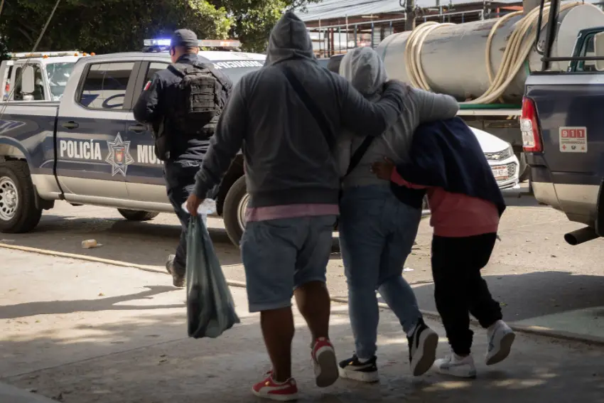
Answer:
<svg viewBox="0 0 604 403"><path fill-rule="evenodd" d="M436 309L457 355L470 354L470 313L483 328L502 318L500 304L492 298L480 275L480 269L489 262L495 240L495 233L459 238L435 235L432 239Z"/></svg>

